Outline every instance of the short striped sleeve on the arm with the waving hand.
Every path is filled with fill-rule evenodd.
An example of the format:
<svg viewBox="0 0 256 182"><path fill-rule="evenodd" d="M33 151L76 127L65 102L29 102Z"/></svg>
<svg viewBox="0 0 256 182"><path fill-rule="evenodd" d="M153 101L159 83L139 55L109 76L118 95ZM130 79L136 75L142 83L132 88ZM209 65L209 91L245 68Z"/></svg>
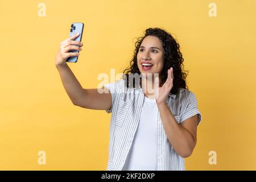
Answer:
<svg viewBox="0 0 256 182"><path fill-rule="evenodd" d="M197 125L199 125L201 119L202 119L202 115L200 113L200 111L197 109L197 100L196 100L196 96L193 92L189 92L190 94L188 94L188 102L185 103L185 109L184 112L181 114L180 116L180 123L182 123L183 121L185 121L188 118L191 118L192 116L199 114L198 120L197 120Z"/></svg>

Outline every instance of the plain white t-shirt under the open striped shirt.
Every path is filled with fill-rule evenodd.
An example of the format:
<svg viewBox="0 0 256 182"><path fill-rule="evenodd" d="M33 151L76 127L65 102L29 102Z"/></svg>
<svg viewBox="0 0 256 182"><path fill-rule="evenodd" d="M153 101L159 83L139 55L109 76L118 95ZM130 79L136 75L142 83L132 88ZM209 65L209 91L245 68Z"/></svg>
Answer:
<svg viewBox="0 0 256 182"><path fill-rule="evenodd" d="M125 171L156 171L158 141L158 106L144 96L141 118L127 156Z"/></svg>

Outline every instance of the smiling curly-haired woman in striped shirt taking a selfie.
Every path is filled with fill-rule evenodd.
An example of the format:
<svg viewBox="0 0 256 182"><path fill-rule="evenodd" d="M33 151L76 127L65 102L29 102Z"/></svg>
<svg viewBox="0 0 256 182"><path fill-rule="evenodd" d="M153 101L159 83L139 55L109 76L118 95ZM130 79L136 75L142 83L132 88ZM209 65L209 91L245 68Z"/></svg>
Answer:
<svg viewBox="0 0 256 182"><path fill-rule="evenodd" d="M135 43L123 78L104 85L104 93L83 89L65 63L79 55L68 51L81 51L75 38L61 43L55 64L74 105L112 112L108 170L184 170L184 158L196 146L201 114L195 94L187 89L183 57L172 35L148 28Z"/></svg>

